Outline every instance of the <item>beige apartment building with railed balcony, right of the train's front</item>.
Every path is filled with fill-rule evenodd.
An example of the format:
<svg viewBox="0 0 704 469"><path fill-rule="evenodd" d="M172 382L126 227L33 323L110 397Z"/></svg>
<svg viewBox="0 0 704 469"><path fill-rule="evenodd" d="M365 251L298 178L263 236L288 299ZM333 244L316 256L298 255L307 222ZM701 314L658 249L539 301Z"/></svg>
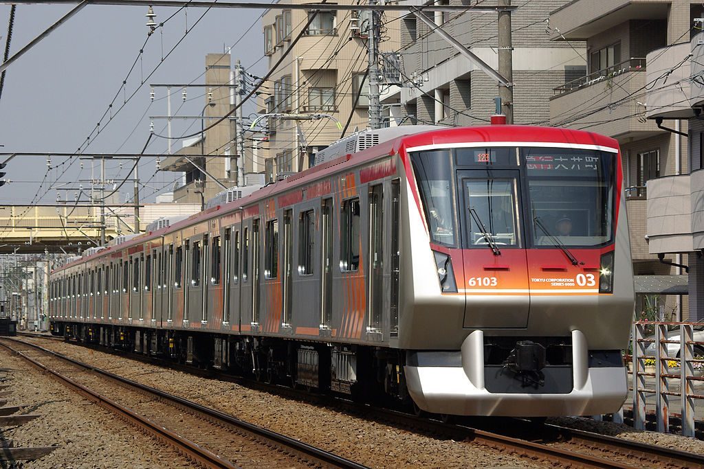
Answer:
<svg viewBox="0 0 704 469"><path fill-rule="evenodd" d="M555 87L551 125L595 131L620 143L639 315L688 315L687 298L678 296L687 291L686 277L674 276L684 269L672 264L691 259L663 250L646 214L663 207L663 191L667 198L667 191L682 189L655 181L688 174L691 167L687 115L673 103L687 101L689 81L683 78L689 76L694 18L701 13L701 3L689 0L574 0L550 15L551 39L586 42L587 67L584 76ZM677 100L665 102L665 84ZM692 113L689 105L684 108Z"/></svg>

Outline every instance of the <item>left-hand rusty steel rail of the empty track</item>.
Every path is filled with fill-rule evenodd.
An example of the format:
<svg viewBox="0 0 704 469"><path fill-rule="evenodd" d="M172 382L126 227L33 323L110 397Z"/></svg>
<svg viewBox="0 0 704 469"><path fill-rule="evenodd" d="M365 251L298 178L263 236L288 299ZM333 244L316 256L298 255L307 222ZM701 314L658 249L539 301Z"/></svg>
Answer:
<svg viewBox="0 0 704 469"><path fill-rule="evenodd" d="M4 340L6 340L4 338ZM14 339L9 339L13 340ZM16 340L16 342L20 342L23 345L32 345L33 347L37 347L36 345L33 344L27 344L27 342L23 342L21 340ZM205 465L208 468L227 468L227 469L236 469L237 466L230 463L230 461L227 461L226 459L220 458L217 454L209 451L206 448L203 448L202 446L199 446L199 444L196 444L194 442L191 442L191 440L184 438L180 435L177 435L176 433L172 432L171 430L168 430L167 428L163 428L161 425L158 425L158 423L153 422L149 418L140 416L138 413L132 411L132 409L129 409L125 406L122 406L118 404L117 402L113 401L112 399L108 399L108 397L105 397L93 390L90 390L89 388L85 387L84 385L77 383L76 381L72 380L71 378L68 378L68 376L65 376L61 373L59 373L56 370L53 370L49 368L48 366L40 363L39 361L33 359L31 356L28 356L24 354L23 352L20 352L20 350L13 348L11 345L8 345L6 342L0 340L0 345L2 347L6 347L6 349L10 350L11 352L17 354L18 356L21 356L23 359L29 361L31 364L34 366L37 366L37 368L41 369L42 371L46 371L47 373L50 373L53 375L55 378L58 378L61 382L65 383L66 385L69 385L70 387L73 387L75 391L77 391L79 394L82 394L84 397L87 397L88 399L95 401L96 404L99 404L103 406L105 409L108 409L109 411L112 411L115 413L117 416L121 418L126 418L128 421L134 423L137 425L139 428L142 428L146 430L147 432L151 433L151 435L156 436L158 439L161 439L171 446L173 446L177 451L182 452L183 454L186 454L189 458L192 458L194 461L197 461L198 463L201 463ZM42 348L42 347L39 347Z"/></svg>

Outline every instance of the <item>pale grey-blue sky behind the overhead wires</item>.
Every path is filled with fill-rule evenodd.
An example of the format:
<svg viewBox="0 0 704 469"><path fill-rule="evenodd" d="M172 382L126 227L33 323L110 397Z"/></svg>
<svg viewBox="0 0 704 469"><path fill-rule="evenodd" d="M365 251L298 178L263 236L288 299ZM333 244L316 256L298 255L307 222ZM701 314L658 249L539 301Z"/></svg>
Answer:
<svg viewBox="0 0 704 469"><path fill-rule="evenodd" d="M18 5L11 55L70 8L73 6ZM87 6L13 63L7 69L0 97L0 145L4 145L0 151L73 153L83 148L95 153L139 153L149 136L149 116L166 114L165 89L154 89L155 99L151 102L149 83L204 83L201 74L205 72L206 54L223 53L233 45L233 63L239 58L246 71L254 75L261 76L265 71L258 19L263 10L155 8L156 23L176 14L144 46L149 32L146 13L146 6ZM2 51L9 16L10 6L0 6ZM251 30L246 32L249 27ZM134 69L122 87L133 63ZM172 112L199 115L206 102L204 92L202 88L191 88L184 102L180 89L172 91ZM108 108L113 98L115 102ZM96 124L106 111L96 135ZM244 115L247 113L245 108ZM165 120L153 123L157 134L165 134ZM199 127L198 120L173 120L172 135L193 133ZM92 138L87 141L90 134ZM180 146L180 141L173 143L174 150ZM165 153L166 149L165 139L152 139L145 153ZM57 191L57 187L75 188L80 184L77 181L91 179L92 172L99 177L98 165L95 162L92 167L88 160L81 163L79 158L51 158L52 168L47 172L45 158L18 156L3 169L7 173L4 179L10 182L0 186L0 205L32 200L53 203L58 195L67 198L67 192L68 199L74 200L75 190ZM130 161L121 165L108 162L106 177L121 181L131 168ZM146 184L141 190L142 198L153 201L153 193L164 186L171 187L176 174L156 172L154 160L141 160L139 177ZM131 184L125 184L120 190L120 201L131 191ZM81 200L87 200L86 195Z"/></svg>

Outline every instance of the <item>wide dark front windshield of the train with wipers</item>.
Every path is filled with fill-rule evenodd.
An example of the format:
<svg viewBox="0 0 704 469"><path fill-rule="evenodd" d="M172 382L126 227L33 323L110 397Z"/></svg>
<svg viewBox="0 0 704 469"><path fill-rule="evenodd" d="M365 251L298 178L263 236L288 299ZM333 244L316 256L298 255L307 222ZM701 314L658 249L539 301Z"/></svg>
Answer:
<svg viewBox="0 0 704 469"><path fill-rule="evenodd" d="M456 148L411 153L411 160L434 243L595 248L612 240L614 153Z"/></svg>

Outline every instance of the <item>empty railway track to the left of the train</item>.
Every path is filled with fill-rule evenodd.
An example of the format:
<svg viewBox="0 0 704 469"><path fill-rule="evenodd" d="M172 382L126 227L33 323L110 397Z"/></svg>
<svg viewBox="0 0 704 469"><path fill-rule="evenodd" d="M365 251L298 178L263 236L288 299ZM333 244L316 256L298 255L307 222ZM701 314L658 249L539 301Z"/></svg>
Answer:
<svg viewBox="0 0 704 469"><path fill-rule="evenodd" d="M294 468L365 468L323 449L127 380L37 344L2 338L0 345L205 467L275 464ZM130 406L126 406L125 401L130 401Z"/></svg>

